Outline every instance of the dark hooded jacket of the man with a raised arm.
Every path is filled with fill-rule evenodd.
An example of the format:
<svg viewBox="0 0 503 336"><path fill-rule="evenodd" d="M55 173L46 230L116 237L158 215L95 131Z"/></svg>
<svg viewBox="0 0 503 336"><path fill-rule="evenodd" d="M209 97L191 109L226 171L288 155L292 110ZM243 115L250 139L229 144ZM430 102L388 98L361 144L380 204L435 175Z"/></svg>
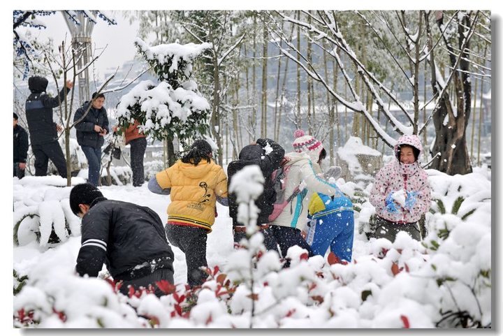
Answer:
<svg viewBox="0 0 503 336"><path fill-rule="evenodd" d="M42 145L57 141L56 124L52 121L52 108L63 103L70 89L64 87L57 97L50 97L45 93L48 80L34 76L28 80L31 94L28 96L25 108L31 145Z"/></svg>

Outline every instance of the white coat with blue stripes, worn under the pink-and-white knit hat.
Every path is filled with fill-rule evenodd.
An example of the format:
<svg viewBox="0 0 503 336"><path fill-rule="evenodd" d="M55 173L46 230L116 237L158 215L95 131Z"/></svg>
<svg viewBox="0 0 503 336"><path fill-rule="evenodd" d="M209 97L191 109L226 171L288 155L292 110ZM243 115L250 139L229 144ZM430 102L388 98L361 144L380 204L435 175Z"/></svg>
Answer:
<svg viewBox="0 0 503 336"><path fill-rule="evenodd" d="M308 154L290 152L285 154L285 158L289 159L285 166L291 166L286 177L285 198L292 195L296 187L299 187L300 192L271 224L298 228L302 231L307 222L309 199L312 193L334 196L340 191L335 184L330 184L319 177L318 173L321 169L317 163L311 161Z"/></svg>

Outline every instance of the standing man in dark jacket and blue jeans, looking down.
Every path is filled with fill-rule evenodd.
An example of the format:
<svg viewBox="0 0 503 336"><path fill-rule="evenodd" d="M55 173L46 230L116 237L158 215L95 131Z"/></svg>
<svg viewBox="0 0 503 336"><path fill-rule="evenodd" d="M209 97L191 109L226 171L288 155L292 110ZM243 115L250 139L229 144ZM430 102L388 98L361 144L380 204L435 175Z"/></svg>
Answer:
<svg viewBox="0 0 503 336"><path fill-rule="evenodd" d="M77 129L77 142L89 163L87 182L97 186L100 180L101 147L109 132L108 117L103 104L105 95L94 92L92 101L86 101L73 117ZM86 113L87 112L87 113Z"/></svg>

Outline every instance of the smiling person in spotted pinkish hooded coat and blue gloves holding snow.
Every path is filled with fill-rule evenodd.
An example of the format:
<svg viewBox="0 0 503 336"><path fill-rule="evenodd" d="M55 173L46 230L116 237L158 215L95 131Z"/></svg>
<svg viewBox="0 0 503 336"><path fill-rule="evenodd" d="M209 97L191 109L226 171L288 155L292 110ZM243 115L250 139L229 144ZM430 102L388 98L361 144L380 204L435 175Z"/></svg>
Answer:
<svg viewBox="0 0 503 336"><path fill-rule="evenodd" d="M397 160L377 173L370 203L377 214L373 237L395 241L399 231L421 240L418 221L430 210L428 175L418 163L423 150L418 136L401 136L395 145Z"/></svg>

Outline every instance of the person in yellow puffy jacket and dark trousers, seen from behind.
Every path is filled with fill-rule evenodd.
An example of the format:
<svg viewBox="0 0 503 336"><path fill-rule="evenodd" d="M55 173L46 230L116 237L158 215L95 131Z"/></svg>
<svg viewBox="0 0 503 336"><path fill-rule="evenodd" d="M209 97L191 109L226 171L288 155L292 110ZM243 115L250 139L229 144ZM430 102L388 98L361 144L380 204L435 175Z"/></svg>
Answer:
<svg viewBox="0 0 503 336"><path fill-rule="evenodd" d="M210 144L196 140L182 159L152 177L148 188L170 195L166 235L185 254L189 286L203 284L206 273L201 268L207 267L206 238L216 202L227 205L227 176L212 160Z"/></svg>

